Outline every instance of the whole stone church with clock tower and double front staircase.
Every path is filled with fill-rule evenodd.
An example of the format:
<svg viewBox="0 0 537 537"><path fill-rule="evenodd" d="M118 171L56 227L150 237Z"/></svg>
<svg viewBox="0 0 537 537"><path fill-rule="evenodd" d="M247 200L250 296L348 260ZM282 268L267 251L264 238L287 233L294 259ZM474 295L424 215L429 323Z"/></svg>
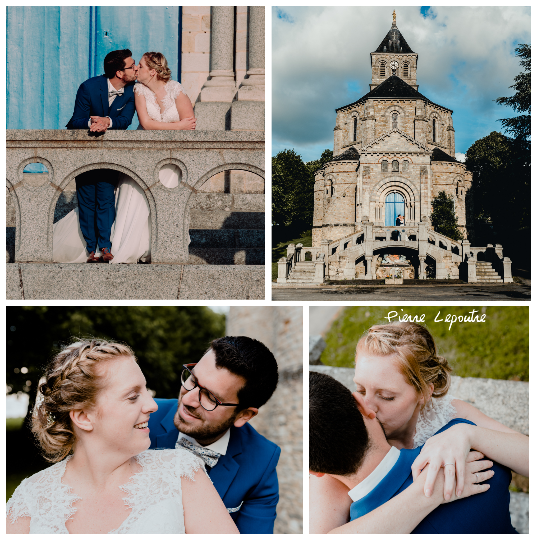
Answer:
<svg viewBox="0 0 537 537"><path fill-rule="evenodd" d="M472 173L455 159L453 110L418 91L417 68L394 10L371 53L369 92L336 110L333 158L315 172L312 245L287 246L278 283L512 281L501 244L470 244ZM453 197L461 241L431 224L441 191Z"/></svg>

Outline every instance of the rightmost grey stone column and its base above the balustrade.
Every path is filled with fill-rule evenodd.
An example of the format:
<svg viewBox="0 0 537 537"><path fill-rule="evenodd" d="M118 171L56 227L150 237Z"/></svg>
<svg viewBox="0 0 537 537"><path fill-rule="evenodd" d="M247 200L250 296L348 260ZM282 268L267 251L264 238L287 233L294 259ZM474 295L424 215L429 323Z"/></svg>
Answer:
<svg viewBox="0 0 537 537"><path fill-rule="evenodd" d="M248 18L248 78L231 105L231 130L265 130L265 6L250 6Z"/></svg>

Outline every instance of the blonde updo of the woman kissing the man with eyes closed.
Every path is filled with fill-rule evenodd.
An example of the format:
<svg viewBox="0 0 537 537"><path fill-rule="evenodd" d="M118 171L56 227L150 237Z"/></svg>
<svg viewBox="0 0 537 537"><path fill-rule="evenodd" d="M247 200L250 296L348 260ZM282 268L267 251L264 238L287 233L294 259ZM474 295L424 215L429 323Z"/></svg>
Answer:
<svg viewBox="0 0 537 537"><path fill-rule="evenodd" d="M429 400L430 384L432 397L442 397L449 390L453 369L437 354L431 332L422 324L394 322L372 326L356 346L356 355L359 353L395 355L401 374L417 394L425 397L425 402Z"/></svg>

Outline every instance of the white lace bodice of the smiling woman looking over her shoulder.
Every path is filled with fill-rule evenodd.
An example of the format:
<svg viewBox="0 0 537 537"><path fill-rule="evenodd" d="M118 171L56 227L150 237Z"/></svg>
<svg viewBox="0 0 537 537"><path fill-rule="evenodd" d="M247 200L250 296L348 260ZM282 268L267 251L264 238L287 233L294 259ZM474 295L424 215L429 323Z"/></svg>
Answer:
<svg viewBox="0 0 537 537"><path fill-rule="evenodd" d="M13 523L31 517L30 533L69 533L66 522L81 499L62 483L70 458L20 483L6 505L6 517ZM120 487L132 511L108 533L185 533L181 477L193 480L195 471L204 468L200 459L185 449L149 449L135 459L142 470Z"/></svg>

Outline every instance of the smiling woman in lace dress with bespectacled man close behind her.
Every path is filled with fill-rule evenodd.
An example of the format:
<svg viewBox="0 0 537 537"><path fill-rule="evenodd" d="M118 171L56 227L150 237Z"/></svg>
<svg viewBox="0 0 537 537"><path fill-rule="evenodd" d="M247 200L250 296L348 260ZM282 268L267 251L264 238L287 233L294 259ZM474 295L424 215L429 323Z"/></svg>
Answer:
<svg viewBox="0 0 537 537"><path fill-rule="evenodd" d="M215 339L154 399L125 344L75 339L49 363L32 430L49 468L6 506L8 533L272 533L280 448L248 423L278 366L248 337Z"/></svg>

